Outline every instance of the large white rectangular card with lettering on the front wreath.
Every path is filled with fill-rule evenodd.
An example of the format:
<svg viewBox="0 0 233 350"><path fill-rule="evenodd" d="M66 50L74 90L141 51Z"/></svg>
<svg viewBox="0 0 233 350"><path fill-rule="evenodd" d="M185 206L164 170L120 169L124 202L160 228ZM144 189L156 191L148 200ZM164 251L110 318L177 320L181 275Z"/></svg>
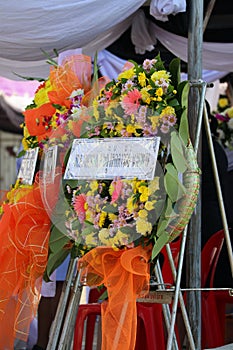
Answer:
<svg viewBox="0 0 233 350"><path fill-rule="evenodd" d="M75 139L64 179L152 180L160 137Z"/></svg>

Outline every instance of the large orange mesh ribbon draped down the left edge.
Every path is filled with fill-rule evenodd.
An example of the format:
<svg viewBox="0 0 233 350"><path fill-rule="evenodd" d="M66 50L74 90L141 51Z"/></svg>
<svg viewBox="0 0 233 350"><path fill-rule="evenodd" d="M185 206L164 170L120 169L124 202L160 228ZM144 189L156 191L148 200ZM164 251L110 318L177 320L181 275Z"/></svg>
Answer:
<svg viewBox="0 0 233 350"><path fill-rule="evenodd" d="M0 220L0 349L27 340L48 257L50 219L36 182ZM52 203L50 203L52 204Z"/></svg>

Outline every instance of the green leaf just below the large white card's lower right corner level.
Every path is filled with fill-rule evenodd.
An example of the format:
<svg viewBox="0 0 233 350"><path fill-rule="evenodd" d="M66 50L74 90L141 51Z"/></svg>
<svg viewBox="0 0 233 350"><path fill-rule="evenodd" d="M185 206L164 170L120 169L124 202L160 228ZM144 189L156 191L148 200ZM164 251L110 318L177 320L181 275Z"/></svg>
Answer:
<svg viewBox="0 0 233 350"><path fill-rule="evenodd" d="M185 194L185 187L179 181L178 172L174 165L168 163L165 168L167 172L164 176L164 186L168 196L174 203Z"/></svg>

